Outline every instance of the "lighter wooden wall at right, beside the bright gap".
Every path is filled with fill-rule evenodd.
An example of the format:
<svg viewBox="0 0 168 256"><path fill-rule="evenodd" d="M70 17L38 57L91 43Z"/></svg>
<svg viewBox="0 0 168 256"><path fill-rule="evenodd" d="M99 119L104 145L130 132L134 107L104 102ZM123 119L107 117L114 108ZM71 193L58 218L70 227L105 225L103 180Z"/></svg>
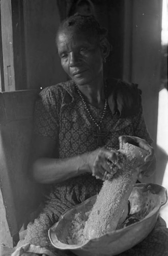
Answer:
<svg viewBox="0 0 168 256"><path fill-rule="evenodd" d="M124 5L123 79L138 83L143 91L144 116L157 153L162 1L133 0ZM156 176L145 182L157 183Z"/></svg>

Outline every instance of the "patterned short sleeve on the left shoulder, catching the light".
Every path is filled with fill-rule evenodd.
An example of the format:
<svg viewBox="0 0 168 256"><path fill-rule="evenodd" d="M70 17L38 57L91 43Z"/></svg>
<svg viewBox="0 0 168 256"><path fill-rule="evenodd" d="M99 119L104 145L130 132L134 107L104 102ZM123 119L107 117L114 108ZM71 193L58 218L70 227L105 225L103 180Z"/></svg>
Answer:
<svg viewBox="0 0 168 256"><path fill-rule="evenodd" d="M45 88L35 103L34 134L57 140L59 136L59 102L55 92Z"/></svg>

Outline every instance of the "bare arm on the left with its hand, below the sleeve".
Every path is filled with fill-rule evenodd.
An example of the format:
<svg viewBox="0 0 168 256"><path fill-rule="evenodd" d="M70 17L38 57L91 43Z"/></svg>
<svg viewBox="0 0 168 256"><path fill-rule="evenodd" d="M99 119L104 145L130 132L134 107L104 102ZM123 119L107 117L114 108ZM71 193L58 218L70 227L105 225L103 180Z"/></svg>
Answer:
<svg viewBox="0 0 168 256"><path fill-rule="evenodd" d="M118 152L110 152L105 148L98 148L93 152L75 157L58 159L53 157L55 141L37 136L34 140L32 171L34 179L39 183L57 183L83 173L92 173L103 179L104 173L110 175L107 159L118 161Z"/></svg>

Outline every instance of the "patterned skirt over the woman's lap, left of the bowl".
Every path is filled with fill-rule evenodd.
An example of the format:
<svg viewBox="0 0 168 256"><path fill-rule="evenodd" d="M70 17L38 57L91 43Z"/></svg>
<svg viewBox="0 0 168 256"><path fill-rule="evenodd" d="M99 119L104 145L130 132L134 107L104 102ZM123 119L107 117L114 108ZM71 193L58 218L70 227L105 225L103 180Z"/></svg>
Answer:
<svg viewBox="0 0 168 256"><path fill-rule="evenodd" d="M102 181L97 181L93 176L90 176L86 182L83 182L83 177L79 177L75 184L72 180L70 183L63 183L62 186L53 186L50 195L46 198L43 212L34 222L27 225L26 236L18 242L17 248L26 244L33 244L45 247L56 255L63 255L63 252L58 252L50 243L48 229L59 220L67 209L97 194L101 185Z"/></svg>

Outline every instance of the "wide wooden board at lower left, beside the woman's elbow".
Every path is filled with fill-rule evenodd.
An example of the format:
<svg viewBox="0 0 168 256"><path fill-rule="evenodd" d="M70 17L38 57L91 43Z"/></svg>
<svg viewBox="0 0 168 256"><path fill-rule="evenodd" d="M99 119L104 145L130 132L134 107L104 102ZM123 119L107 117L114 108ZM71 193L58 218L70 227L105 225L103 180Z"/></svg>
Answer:
<svg viewBox="0 0 168 256"><path fill-rule="evenodd" d="M17 236L35 206L37 185L27 177L27 165L37 94L36 90L0 93L0 179L12 237Z"/></svg>

